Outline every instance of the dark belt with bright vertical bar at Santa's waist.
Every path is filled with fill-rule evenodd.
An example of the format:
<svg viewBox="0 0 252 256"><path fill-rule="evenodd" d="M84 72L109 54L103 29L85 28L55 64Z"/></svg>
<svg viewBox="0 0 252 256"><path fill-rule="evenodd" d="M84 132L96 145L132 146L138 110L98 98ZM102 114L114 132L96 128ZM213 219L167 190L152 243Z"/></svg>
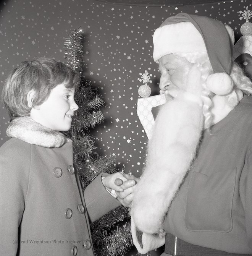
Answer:
<svg viewBox="0 0 252 256"><path fill-rule="evenodd" d="M176 256L252 256L252 254L226 253L187 243L174 235L165 235L165 253Z"/></svg>

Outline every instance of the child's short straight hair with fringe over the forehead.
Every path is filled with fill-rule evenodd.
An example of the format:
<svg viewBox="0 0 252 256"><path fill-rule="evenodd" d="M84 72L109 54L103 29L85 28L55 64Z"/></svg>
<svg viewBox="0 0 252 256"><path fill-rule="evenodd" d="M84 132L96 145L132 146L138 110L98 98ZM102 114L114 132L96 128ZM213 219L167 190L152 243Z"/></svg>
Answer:
<svg viewBox="0 0 252 256"><path fill-rule="evenodd" d="M21 62L11 71L3 86L2 100L12 119L29 116L31 112L27 102L29 91L36 92L32 106L39 106L58 84L64 83L67 88L77 89L79 81L79 73L63 62L38 57L30 62Z"/></svg>

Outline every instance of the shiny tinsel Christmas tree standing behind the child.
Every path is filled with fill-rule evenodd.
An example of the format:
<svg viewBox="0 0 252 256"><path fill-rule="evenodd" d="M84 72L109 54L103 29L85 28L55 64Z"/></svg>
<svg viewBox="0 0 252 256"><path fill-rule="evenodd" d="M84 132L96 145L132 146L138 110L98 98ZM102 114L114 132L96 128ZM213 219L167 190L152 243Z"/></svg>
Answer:
<svg viewBox="0 0 252 256"><path fill-rule="evenodd" d="M66 64L81 74L75 101L79 106L71 129L66 136L73 141L73 157L84 188L100 173L116 172L115 159L99 157L95 152L95 141L88 129L103 122L100 107L103 100L92 87L89 80L82 76L83 67L82 30L73 29L65 38ZM92 241L96 256L123 256L132 245L128 208L117 207L91 225Z"/></svg>

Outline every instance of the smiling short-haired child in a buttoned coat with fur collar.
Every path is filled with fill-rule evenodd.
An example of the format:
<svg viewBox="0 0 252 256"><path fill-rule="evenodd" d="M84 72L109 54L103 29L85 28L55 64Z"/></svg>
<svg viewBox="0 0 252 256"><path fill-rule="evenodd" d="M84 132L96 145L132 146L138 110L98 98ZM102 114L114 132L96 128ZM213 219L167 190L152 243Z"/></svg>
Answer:
<svg viewBox="0 0 252 256"><path fill-rule="evenodd" d="M0 255L92 256L89 221L131 203L135 181L120 172L99 175L82 194L72 141L59 132L78 109L78 84L78 73L49 58L22 62L6 80L12 138L0 148Z"/></svg>

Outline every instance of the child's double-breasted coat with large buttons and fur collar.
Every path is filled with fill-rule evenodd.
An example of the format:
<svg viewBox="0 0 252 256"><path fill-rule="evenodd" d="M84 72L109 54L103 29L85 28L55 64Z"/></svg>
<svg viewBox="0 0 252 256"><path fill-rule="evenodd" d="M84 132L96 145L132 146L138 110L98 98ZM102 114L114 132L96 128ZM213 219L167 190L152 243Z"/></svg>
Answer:
<svg viewBox="0 0 252 256"><path fill-rule="evenodd" d="M16 138L0 148L0 255L93 256L89 220L120 205L101 175L84 199L71 140L29 117L7 134Z"/></svg>

